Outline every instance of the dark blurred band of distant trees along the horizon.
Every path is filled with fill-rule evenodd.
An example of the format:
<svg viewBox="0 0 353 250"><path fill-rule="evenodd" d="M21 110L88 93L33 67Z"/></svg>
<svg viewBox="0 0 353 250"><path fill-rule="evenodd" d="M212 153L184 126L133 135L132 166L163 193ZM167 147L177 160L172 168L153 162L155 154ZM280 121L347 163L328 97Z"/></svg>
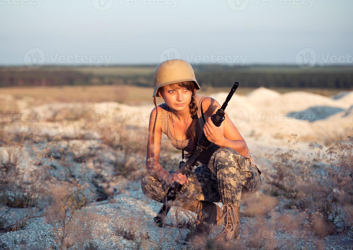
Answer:
<svg viewBox="0 0 353 250"><path fill-rule="evenodd" d="M229 67L196 65L195 75L202 86L224 87L238 81L243 87L310 87L351 88L353 67L303 70L285 66ZM293 69L294 68L294 69ZM36 70L28 68L0 68L0 87L5 86L60 86L60 85L137 85L152 86L152 75L97 75L75 71L74 67Z"/></svg>

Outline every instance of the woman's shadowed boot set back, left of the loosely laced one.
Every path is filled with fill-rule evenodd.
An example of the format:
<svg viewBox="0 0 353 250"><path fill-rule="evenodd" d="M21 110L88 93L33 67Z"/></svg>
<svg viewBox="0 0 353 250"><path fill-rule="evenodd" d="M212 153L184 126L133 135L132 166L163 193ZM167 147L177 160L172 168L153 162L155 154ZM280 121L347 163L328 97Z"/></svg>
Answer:
<svg viewBox="0 0 353 250"><path fill-rule="evenodd" d="M204 242L213 226L217 224L217 221L219 222L220 207L213 202L195 201L184 208L197 213L196 227L193 231L187 233L186 240Z"/></svg>

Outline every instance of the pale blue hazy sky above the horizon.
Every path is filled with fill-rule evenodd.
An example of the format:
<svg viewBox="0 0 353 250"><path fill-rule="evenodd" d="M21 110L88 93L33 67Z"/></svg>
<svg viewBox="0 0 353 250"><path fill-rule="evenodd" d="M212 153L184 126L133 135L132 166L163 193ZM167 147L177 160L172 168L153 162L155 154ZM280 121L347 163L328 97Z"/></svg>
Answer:
<svg viewBox="0 0 353 250"><path fill-rule="evenodd" d="M237 0L247 4L241 11L230 7L234 0L114 0L106 11L94 8L99 0L27 1L0 0L0 65L23 65L32 48L43 50L46 64L75 54L157 64L163 51L191 63L219 56L246 65L295 64L306 48L318 64L335 63L331 56L350 63L353 55L352 0Z"/></svg>

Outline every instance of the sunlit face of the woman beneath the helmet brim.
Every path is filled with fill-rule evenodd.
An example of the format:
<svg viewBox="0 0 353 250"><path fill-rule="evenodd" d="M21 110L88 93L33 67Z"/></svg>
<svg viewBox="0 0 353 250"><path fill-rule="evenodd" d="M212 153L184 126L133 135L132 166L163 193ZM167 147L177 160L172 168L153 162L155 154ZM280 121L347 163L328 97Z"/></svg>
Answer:
<svg viewBox="0 0 353 250"><path fill-rule="evenodd" d="M189 106L191 102L191 96L192 91L188 89L188 87L166 85L163 87L161 98L164 99L164 102L170 108L181 111Z"/></svg>

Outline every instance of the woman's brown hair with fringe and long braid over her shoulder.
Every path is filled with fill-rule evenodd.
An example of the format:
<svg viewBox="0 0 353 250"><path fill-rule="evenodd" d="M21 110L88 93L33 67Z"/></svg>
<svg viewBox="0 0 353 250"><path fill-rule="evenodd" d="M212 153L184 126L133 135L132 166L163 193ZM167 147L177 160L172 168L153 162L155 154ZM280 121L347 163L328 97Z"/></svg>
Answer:
<svg viewBox="0 0 353 250"><path fill-rule="evenodd" d="M200 131L201 129L199 128L199 126L197 126L197 111L198 111L198 107L197 107L197 103L196 103L196 91L195 91L195 83L193 81L182 81L179 83L173 83L170 84L171 87L185 87L187 89L189 89L192 92L192 97L191 97L191 102L189 103L189 109L190 109L190 114L192 117L192 122L190 125L190 129L187 130L186 133L186 137L191 139L191 148L194 148L197 144L198 138L201 136L202 131ZM161 96L161 93L163 93L163 87L160 87L157 91L157 96ZM186 158L189 158L191 152L185 154Z"/></svg>

